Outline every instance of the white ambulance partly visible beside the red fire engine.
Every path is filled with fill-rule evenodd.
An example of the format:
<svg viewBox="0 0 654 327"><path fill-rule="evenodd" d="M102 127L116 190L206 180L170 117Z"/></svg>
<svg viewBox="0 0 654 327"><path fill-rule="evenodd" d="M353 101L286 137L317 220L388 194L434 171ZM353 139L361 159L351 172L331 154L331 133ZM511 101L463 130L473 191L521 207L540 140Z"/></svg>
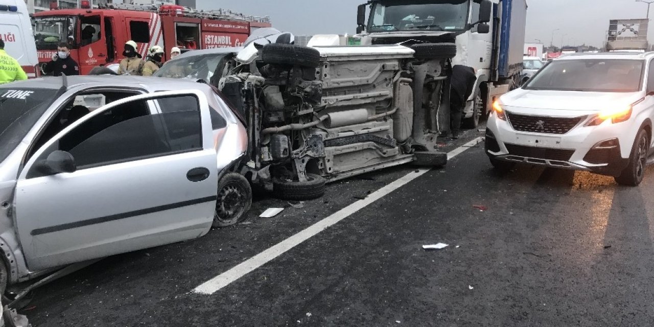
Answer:
<svg viewBox="0 0 654 327"><path fill-rule="evenodd" d="M23 67L27 77L37 77L39 57L32 24L23 0L0 0L0 39L5 50Z"/></svg>

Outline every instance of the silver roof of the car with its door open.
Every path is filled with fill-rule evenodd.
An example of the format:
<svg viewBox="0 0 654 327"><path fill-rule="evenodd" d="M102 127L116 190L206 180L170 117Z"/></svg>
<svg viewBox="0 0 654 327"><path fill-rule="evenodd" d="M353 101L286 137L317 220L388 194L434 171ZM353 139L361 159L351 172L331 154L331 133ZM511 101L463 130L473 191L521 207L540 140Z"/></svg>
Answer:
<svg viewBox="0 0 654 327"><path fill-rule="evenodd" d="M123 88L134 87L148 90L180 90L184 88L197 89L201 85L194 80L116 75L68 76L66 77L66 82L69 89L79 86L86 86L86 88L120 86ZM8 83L5 84L5 87L58 90L62 85L62 77L42 77L12 82L11 84Z"/></svg>

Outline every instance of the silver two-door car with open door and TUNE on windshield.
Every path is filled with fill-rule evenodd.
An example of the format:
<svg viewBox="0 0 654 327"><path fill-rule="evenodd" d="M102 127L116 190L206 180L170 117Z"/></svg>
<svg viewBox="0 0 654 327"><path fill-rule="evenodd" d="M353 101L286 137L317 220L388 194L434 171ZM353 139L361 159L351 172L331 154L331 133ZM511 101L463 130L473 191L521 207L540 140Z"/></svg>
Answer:
<svg viewBox="0 0 654 327"><path fill-rule="evenodd" d="M90 96L106 103L80 105ZM50 77L0 86L0 294L48 269L201 237L252 201L243 122L211 86Z"/></svg>

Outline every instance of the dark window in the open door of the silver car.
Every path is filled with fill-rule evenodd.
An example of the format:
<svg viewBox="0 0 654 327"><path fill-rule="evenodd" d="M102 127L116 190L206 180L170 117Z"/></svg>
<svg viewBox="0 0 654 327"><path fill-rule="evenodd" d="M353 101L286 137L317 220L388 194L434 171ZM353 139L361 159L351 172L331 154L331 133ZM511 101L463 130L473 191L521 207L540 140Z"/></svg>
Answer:
<svg viewBox="0 0 654 327"><path fill-rule="evenodd" d="M184 109L150 114L147 101L131 101L94 116L50 146L39 158L45 160L54 150L69 152L77 169L130 162L180 152L201 150L202 126L198 99L184 96L164 98ZM32 168L28 178L41 176Z"/></svg>

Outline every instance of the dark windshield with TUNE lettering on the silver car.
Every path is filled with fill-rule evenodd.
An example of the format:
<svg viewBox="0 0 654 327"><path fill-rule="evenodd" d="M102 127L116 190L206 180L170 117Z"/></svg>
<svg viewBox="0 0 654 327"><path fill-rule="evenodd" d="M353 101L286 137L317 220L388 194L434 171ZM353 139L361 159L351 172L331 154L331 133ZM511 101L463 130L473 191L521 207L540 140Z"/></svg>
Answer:
<svg viewBox="0 0 654 327"><path fill-rule="evenodd" d="M56 93L50 89L0 87L0 162L43 116Z"/></svg>

